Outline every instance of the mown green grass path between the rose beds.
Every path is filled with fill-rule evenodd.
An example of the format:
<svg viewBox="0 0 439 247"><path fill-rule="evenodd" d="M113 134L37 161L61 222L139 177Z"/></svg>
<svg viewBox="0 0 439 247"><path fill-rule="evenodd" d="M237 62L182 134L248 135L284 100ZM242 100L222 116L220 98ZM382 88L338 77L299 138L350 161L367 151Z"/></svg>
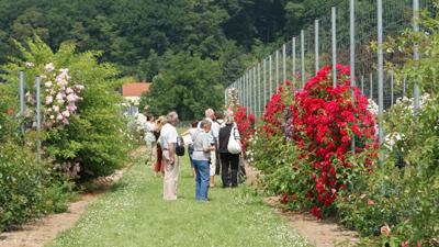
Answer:
<svg viewBox="0 0 439 247"><path fill-rule="evenodd" d="M187 157L180 164L179 200L166 202L161 191L161 179L139 158L48 246L309 246L248 188L217 187L209 203L195 202Z"/></svg>

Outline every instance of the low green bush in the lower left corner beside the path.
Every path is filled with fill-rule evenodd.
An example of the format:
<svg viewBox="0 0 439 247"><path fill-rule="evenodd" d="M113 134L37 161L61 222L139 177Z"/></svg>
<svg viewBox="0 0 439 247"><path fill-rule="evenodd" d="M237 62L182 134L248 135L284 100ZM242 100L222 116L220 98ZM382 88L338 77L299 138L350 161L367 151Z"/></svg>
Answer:
<svg viewBox="0 0 439 247"><path fill-rule="evenodd" d="M19 151L20 150L20 151ZM10 142L0 145L0 232L30 218L67 210L74 184Z"/></svg>

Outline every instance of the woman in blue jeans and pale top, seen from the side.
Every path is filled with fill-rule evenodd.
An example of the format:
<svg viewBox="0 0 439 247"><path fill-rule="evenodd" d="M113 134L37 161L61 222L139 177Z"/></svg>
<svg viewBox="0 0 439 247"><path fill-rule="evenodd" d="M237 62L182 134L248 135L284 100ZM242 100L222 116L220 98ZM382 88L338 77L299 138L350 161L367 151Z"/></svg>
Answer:
<svg viewBox="0 0 439 247"><path fill-rule="evenodd" d="M215 147L211 146L209 133L211 132L212 123L203 120L200 128L193 137L192 161L195 169L195 199L196 201L207 201L210 165L209 159L211 151Z"/></svg>

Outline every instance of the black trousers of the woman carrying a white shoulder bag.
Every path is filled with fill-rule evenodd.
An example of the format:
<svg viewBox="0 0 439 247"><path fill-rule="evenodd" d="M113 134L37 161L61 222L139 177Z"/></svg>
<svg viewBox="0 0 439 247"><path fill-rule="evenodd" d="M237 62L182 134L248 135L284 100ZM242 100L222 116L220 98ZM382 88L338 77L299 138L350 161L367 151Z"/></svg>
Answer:
<svg viewBox="0 0 439 247"><path fill-rule="evenodd" d="M237 187L238 186L238 167L239 167L239 155L233 155L230 153L221 153L221 179L223 180L223 187ZM232 172L228 172L230 169Z"/></svg>

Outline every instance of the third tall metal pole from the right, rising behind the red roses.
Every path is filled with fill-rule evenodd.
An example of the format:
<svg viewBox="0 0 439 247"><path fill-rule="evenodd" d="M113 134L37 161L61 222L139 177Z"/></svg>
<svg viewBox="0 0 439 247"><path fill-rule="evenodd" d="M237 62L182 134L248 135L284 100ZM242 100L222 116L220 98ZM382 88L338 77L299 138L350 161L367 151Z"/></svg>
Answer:
<svg viewBox="0 0 439 247"><path fill-rule="evenodd" d="M356 102L353 87L356 86L356 0L350 0L350 87L352 102ZM356 135L352 134L351 151L356 153Z"/></svg>

